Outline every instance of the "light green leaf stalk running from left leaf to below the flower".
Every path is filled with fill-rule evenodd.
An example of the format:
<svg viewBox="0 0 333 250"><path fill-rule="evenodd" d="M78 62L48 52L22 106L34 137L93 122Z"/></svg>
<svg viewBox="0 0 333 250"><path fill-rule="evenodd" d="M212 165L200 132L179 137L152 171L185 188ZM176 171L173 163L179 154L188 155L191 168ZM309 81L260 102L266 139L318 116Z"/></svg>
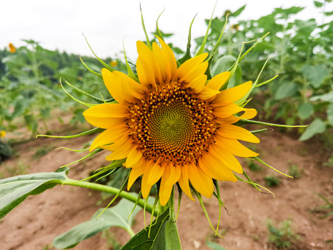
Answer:
<svg viewBox="0 0 333 250"><path fill-rule="evenodd" d="M73 179L67 179L67 180L54 180L53 183L58 183L61 185L73 185L76 187L81 187L81 188L89 188L92 190L98 190L98 191L102 191L102 192L108 192L109 194L118 194L119 189L118 188L112 188L109 187L107 185L101 185L98 183L89 183L86 181L76 181ZM146 211L148 213L153 213L153 215L155 217L157 217L157 214L160 213L160 211L158 210L158 208L155 208L155 210L153 211L153 205L146 203L143 199L139 199L139 201L137 201L137 196L130 194L128 192L122 191L119 194L119 197L123 198L123 199L127 199L128 201L132 201L133 203L137 202L137 205L144 208L144 206L146 206Z"/></svg>

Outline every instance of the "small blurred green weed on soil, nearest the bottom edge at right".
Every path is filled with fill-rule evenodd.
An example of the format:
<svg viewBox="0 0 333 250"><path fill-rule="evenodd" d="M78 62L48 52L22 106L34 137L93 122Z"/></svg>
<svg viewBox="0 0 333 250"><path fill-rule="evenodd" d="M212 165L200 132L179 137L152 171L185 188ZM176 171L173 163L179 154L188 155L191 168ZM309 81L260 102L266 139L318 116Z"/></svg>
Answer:
<svg viewBox="0 0 333 250"><path fill-rule="evenodd" d="M275 222L267 219L268 242L277 249L291 249L300 242L300 235L293 233L291 220L287 219L275 226Z"/></svg>

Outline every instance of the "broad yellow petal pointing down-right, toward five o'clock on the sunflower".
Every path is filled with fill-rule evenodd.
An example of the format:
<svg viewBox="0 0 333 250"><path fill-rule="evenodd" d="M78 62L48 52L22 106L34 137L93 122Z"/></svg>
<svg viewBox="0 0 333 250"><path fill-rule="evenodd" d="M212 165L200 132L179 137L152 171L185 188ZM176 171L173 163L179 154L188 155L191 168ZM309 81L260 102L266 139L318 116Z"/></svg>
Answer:
<svg viewBox="0 0 333 250"><path fill-rule="evenodd" d="M207 176L199 167L196 165L189 165L189 181L196 189L196 191L203 194L205 197L212 197L214 191L214 183L210 176Z"/></svg>

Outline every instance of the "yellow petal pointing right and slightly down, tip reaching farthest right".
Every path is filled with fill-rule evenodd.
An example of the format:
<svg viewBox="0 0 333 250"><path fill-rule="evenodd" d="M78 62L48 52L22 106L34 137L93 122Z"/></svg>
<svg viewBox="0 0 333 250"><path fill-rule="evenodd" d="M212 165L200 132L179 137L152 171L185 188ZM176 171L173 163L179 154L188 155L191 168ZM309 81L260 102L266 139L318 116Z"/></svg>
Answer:
<svg viewBox="0 0 333 250"><path fill-rule="evenodd" d="M225 124L217 130L217 133L226 138L243 140L245 142L253 142L253 143L260 142L260 140L255 135L253 135L253 133L250 133L245 128L241 128L240 126Z"/></svg>

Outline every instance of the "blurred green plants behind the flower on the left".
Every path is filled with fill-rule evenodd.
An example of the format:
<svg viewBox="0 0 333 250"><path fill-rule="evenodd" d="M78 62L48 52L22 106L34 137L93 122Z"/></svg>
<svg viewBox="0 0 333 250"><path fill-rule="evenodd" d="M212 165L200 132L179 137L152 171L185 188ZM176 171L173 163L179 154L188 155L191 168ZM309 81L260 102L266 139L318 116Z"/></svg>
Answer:
<svg viewBox="0 0 333 250"><path fill-rule="evenodd" d="M1 129L15 132L25 124L33 135L39 133L40 128L44 133L50 132L46 120L58 116L61 121L62 110L74 114L71 123L83 122L83 106L62 90L60 77L78 88L99 92L105 99L109 98L103 81L87 71L79 56L44 49L33 40L24 41L26 45L17 48L15 53L7 49L0 51ZM102 65L95 58L82 59L89 68L101 72ZM118 70L126 69L123 63L111 58L105 61L117 62ZM87 100L76 90L70 92L80 100Z"/></svg>

